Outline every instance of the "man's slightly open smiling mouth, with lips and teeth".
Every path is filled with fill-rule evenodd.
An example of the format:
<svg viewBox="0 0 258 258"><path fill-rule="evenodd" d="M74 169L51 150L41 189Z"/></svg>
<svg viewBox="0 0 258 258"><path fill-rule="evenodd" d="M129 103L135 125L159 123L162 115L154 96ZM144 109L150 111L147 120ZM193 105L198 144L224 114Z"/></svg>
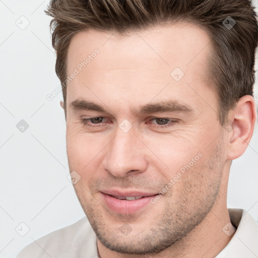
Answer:
<svg viewBox="0 0 258 258"><path fill-rule="evenodd" d="M112 192L113 193L113 192ZM100 192L102 199L108 209L119 214L134 214L152 205L151 199L155 198L157 193L118 193L114 195ZM154 205L152 205L153 207Z"/></svg>

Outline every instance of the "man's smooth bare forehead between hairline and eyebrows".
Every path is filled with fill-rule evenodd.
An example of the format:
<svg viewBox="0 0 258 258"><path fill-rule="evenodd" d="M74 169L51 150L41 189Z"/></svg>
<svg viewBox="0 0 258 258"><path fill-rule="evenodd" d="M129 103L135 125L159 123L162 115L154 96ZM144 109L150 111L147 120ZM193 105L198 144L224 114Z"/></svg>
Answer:
<svg viewBox="0 0 258 258"><path fill-rule="evenodd" d="M72 101L89 93L90 88L98 96L109 94L118 99L119 95L124 100L134 96L136 102L146 97L150 101L167 84L164 96L173 92L177 99L183 99L188 92L190 97L197 97L186 83L194 86L195 91L207 88L203 79L210 41L204 30L188 23L157 26L127 35L96 30L79 32L68 49L67 74L78 71L68 85L68 98ZM98 54L94 53L96 49ZM182 79L176 81L174 74Z"/></svg>

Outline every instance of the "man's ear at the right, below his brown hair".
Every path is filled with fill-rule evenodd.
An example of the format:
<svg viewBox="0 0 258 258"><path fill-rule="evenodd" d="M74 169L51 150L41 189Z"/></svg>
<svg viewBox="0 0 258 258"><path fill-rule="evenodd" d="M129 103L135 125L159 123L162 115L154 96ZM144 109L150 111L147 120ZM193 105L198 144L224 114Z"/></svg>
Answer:
<svg viewBox="0 0 258 258"><path fill-rule="evenodd" d="M255 102L252 96L245 95L239 99L235 108L230 111L227 128L227 159L240 157L246 150L254 130L256 120Z"/></svg>

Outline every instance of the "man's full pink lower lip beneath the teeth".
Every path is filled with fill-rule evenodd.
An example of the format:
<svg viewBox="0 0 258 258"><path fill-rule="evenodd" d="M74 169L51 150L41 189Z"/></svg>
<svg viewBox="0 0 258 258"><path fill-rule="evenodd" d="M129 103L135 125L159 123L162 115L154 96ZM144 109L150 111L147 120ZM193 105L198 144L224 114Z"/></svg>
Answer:
<svg viewBox="0 0 258 258"><path fill-rule="evenodd" d="M104 202L107 204L107 206L113 210L116 213L121 214L133 214L144 207L146 207L148 204L150 204L151 199L155 198L154 196L148 196L137 200L119 200L116 198L113 198L112 196L106 195L103 192L100 192L103 196Z"/></svg>

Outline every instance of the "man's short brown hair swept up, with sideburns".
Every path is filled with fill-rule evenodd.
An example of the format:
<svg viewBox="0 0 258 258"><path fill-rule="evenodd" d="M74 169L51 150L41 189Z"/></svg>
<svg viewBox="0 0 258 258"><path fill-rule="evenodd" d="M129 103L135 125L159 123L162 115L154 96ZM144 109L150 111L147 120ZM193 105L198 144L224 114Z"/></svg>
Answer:
<svg viewBox="0 0 258 258"><path fill-rule="evenodd" d="M221 124L239 98L253 95L258 26L249 0L51 0L45 13L53 17L55 71L61 83L67 78L68 47L77 32L123 34L185 21L198 24L211 38L206 74L218 96ZM66 88L62 87L65 113Z"/></svg>

